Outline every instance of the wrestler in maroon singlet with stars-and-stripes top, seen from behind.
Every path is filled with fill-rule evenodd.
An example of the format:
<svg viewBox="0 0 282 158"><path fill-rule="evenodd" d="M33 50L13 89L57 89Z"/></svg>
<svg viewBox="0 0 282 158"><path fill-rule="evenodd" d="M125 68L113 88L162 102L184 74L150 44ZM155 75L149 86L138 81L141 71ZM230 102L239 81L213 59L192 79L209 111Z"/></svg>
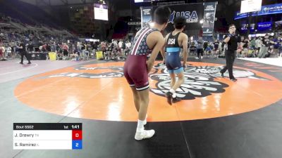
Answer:
<svg viewBox="0 0 282 158"><path fill-rule="evenodd" d="M148 73L154 66L159 51L164 46L164 30L168 23L171 10L167 6L160 6L154 11L154 26L144 27L137 32L130 53L125 61L123 73L133 91L133 100L138 112L135 140L142 140L154 136L154 130L145 130L147 124L147 108L149 105ZM147 60L147 55L151 53Z"/></svg>

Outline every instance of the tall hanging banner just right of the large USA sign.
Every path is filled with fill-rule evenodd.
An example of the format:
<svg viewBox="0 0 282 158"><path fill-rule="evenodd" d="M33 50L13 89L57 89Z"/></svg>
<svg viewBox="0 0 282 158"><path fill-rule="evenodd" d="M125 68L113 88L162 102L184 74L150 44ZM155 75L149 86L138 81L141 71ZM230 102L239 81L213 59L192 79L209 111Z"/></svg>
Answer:
<svg viewBox="0 0 282 158"><path fill-rule="evenodd" d="M204 21L203 21L203 36L212 36L214 33L214 18L216 15L216 4L215 2L204 3Z"/></svg>

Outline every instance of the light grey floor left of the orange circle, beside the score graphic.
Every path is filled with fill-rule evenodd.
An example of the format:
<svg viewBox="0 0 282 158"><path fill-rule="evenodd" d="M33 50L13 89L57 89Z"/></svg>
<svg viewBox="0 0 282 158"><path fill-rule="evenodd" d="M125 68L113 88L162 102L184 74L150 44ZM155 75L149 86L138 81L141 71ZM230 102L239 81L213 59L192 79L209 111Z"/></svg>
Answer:
<svg viewBox="0 0 282 158"><path fill-rule="evenodd" d="M40 112L20 103L13 95L14 88L24 79L0 84L0 147L1 157L15 157L20 150L13 150L13 123L20 122L59 122L63 116Z"/></svg>

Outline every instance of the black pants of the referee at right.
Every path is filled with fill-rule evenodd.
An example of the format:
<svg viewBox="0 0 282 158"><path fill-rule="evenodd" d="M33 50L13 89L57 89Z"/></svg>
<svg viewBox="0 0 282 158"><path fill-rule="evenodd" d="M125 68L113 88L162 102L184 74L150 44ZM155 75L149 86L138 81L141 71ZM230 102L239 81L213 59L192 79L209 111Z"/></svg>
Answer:
<svg viewBox="0 0 282 158"><path fill-rule="evenodd" d="M221 73L223 74L226 70L228 70L230 79L235 79L233 76L233 63L235 56L236 51L225 51L226 65L223 67L223 70L221 70Z"/></svg>

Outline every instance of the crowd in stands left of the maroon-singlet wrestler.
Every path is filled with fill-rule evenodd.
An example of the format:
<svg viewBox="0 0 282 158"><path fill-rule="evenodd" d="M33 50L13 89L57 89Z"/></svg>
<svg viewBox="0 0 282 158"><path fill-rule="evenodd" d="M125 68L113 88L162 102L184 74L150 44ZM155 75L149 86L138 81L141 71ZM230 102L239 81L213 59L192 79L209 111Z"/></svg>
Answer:
<svg viewBox="0 0 282 158"><path fill-rule="evenodd" d="M126 42L123 40L114 40L111 43L108 41L85 42L75 35L70 36L46 31L35 31L28 29L28 25L21 23L20 20L7 17L3 14L0 14L1 22L16 22L18 25L27 29L23 30L15 27L1 29L0 60L19 57L18 47L20 44L25 45L25 51L27 53L45 53L47 58L50 52L56 52L57 60L85 60L94 58L96 51L102 51L102 58L105 60L121 60L125 59L125 56L128 55L131 46L128 40ZM34 24L32 27L42 26Z"/></svg>

